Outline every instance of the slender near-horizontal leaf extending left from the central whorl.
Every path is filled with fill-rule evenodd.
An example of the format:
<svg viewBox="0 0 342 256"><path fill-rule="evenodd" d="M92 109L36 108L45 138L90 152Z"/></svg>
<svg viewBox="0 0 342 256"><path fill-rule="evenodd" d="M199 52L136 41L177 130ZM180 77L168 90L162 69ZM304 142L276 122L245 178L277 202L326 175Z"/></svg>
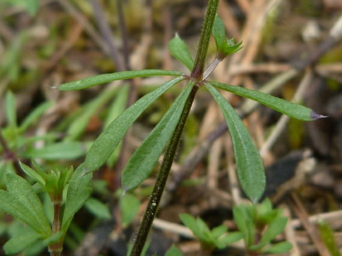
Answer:
<svg viewBox="0 0 342 256"><path fill-rule="evenodd" d="M63 83L56 86L61 91L81 90L86 89L98 84L108 83L115 80L124 80L134 77L147 77L147 76L180 76L183 75L179 71L159 70L159 69L145 69L145 70L131 70L121 71L110 74L101 74L96 76L87 77L81 80Z"/></svg>

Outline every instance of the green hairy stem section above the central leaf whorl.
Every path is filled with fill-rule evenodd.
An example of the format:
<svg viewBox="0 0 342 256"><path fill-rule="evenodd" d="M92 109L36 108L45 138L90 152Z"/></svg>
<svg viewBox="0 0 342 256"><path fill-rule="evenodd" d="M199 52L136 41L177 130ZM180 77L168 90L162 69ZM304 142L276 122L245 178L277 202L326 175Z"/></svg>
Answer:
<svg viewBox="0 0 342 256"><path fill-rule="evenodd" d="M195 63L191 72L191 77L193 77L197 81L202 80L205 59L207 56L209 41L211 37L211 30L213 28L218 3L219 0L209 0L208 3L208 9L202 27Z"/></svg>

